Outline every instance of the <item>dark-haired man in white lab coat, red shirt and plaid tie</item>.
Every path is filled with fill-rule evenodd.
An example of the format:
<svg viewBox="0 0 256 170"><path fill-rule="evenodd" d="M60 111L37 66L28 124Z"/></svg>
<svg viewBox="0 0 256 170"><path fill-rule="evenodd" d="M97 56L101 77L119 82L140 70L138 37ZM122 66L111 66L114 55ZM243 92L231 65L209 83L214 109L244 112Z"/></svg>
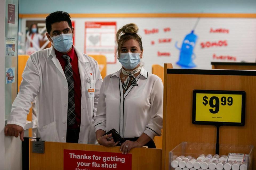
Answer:
<svg viewBox="0 0 256 170"><path fill-rule="evenodd" d="M36 97L37 136L45 141L95 144L93 117L102 77L98 63L73 46L70 16L52 12L45 20L51 48L32 54L22 74L5 135L20 136Z"/></svg>

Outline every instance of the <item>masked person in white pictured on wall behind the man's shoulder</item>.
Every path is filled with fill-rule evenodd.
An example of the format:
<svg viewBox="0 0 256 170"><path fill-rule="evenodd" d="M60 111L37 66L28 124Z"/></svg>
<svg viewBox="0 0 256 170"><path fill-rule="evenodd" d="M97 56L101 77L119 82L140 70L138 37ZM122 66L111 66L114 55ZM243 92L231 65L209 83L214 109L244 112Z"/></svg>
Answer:
<svg viewBox="0 0 256 170"><path fill-rule="evenodd" d="M34 51L40 50L39 41L43 40L43 36L38 33L37 24L32 24L26 35L26 51L29 48L34 48Z"/></svg>

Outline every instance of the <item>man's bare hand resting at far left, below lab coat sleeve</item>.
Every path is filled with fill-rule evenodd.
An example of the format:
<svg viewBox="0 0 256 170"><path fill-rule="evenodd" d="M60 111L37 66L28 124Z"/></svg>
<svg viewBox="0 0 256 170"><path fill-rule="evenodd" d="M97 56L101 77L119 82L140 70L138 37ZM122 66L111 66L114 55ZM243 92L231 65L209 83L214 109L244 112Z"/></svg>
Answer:
<svg viewBox="0 0 256 170"><path fill-rule="evenodd" d="M20 138L21 141L24 141L24 129L19 125L7 124L5 126L5 135L6 136L15 136L16 138Z"/></svg>

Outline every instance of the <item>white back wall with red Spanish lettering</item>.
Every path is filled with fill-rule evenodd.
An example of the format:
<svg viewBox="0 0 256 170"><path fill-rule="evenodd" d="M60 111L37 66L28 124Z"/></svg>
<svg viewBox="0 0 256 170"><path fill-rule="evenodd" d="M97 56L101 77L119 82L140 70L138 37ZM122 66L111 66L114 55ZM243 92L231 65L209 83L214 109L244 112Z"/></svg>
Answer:
<svg viewBox="0 0 256 170"><path fill-rule="evenodd" d="M44 20L44 18L27 19ZM71 20L75 22L75 46L82 53L85 50L85 22L116 22L117 29L127 23L137 24L144 49L142 61L144 68L149 72L154 64L163 66L163 63L172 63L174 68L181 68L176 64L179 61L180 50L175 47L175 43L177 42L178 47L181 47L184 37L191 32L197 22L197 18L71 18ZM23 27L25 23L26 19L23 18L23 33L25 32L25 27ZM196 57L193 61L195 63L193 69L211 69L211 62L255 62L256 39L252 38L256 37L255 27L255 18L201 18L194 32L198 38L193 50ZM159 32L146 34L144 31L144 29L152 30L153 28L159 29ZM164 32L164 28L170 28L171 31ZM211 29L219 28L229 30L229 32L210 32ZM171 42L159 43L159 39L171 39ZM154 41L155 44L152 45L151 41ZM225 41L227 45L209 47L202 45L219 41L221 43ZM170 56L159 56L158 52L168 53ZM86 54L90 55L88 52ZM114 53L112 56L114 57ZM107 75L113 74L120 68L121 64L118 61L115 64L107 64Z"/></svg>

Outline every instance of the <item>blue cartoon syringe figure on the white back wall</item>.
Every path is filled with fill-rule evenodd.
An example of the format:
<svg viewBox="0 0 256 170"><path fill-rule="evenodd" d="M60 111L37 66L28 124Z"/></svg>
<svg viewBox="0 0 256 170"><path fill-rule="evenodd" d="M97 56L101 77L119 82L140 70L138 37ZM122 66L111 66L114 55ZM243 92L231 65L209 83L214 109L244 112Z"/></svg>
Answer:
<svg viewBox="0 0 256 170"><path fill-rule="evenodd" d="M195 54L193 53L195 43L197 41L197 35L194 34L194 30L191 33L187 34L183 40L181 48L177 46L177 41L175 43L175 47L180 50L179 61L177 64L181 66L181 68L193 68L196 67L193 60L195 59ZM193 58L192 58L193 56Z"/></svg>

